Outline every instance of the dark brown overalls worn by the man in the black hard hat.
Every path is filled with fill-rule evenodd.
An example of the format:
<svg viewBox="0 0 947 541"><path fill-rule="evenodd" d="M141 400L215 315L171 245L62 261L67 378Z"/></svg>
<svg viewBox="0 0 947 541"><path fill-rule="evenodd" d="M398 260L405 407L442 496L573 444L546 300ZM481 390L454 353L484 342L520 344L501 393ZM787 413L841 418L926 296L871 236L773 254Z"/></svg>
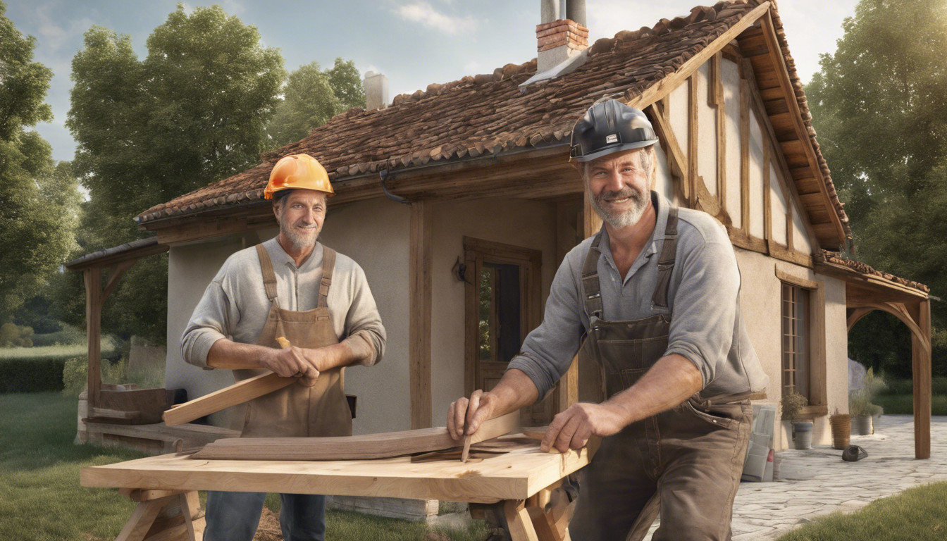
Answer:
<svg viewBox="0 0 947 541"><path fill-rule="evenodd" d="M677 208L670 207L658 280L656 312L667 311L677 250ZM598 264L601 233L582 266L590 318L585 352L597 359L605 396L630 388L668 349L670 313L643 319L601 319ZM720 402L720 399L724 399ZM660 510L654 541L729 539L733 499L742 474L750 414L745 397L691 397L681 406L604 438L581 470L574 541L640 539Z"/></svg>

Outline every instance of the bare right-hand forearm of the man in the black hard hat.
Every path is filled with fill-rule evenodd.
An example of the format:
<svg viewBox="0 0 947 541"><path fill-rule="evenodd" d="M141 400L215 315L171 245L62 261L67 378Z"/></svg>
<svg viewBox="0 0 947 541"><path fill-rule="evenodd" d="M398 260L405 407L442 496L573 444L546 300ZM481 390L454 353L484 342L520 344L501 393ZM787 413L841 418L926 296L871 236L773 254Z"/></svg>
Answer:
<svg viewBox="0 0 947 541"><path fill-rule="evenodd" d="M658 359L634 386L602 406L619 408L628 425L678 406L702 388L704 378L700 370L687 358L670 354Z"/></svg>

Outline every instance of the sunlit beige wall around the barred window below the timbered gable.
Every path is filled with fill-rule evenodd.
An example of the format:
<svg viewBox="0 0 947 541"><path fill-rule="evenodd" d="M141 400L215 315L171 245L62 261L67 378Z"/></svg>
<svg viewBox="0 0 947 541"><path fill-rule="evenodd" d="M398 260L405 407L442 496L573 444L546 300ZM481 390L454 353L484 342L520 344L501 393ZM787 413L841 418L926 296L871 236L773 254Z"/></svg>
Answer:
<svg viewBox="0 0 947 541"><path fill-rule="evenodd" d="M848 333L846 327L845 282L819 275L812 269L735 247L742 279L741 300L746 331L753 342L763 370L770 378L764 404L778 405L781 398L782 330L781 288L776 269L805 280L822 281L826 298L826 379L829 413L849 410ZM813 444L831 444L828 417L815 419ZM777 422L777 449L789 445L788 424Z"/></svg>

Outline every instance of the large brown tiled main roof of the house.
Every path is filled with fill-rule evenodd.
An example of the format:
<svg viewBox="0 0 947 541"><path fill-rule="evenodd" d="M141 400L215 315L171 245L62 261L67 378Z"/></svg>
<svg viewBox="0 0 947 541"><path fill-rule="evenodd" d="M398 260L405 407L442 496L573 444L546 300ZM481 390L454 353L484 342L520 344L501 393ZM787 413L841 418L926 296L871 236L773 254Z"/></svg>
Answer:
<svg viewBox="0 0 947 541"><path fill-rule="evenodd" d="M152 207L136 221L141 224L256 203L273 164L291 153L313 155L330 171L334 182L380 169L395 171L432 161L565 144L575 121L595 100L606 95L634 99L674 73L760 3L734 0L712 8L697 7L686 17L662 19L654 27L625 30L614 38L599 39L589 48L588 60L579 69L530 84L524 92L519 84L535 74L536 59L508 63L491 74L431 84L424 91L396 96L383 110L350 109L302 140L264 154L258 166ZM775 12L774 24L781 28ZM784 38L779 39L814 143L795 63ZM825 160L818 144L814 144L832 203L848 228L848 217L831 186Z"/></svg>

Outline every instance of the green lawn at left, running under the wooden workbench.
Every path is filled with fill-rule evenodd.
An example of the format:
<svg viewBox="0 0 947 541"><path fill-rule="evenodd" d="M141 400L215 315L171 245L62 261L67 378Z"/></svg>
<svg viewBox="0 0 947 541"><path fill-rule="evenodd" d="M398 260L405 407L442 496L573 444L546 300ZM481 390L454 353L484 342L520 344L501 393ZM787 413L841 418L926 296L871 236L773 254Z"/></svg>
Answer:
<svg viewBox="0 0 947 541"><path fill-rule="evenodd" d="M76 407L74 397L56 392L0 395L3 541L114 539L131 516L135 505L131 500L116 490L80 487L79 471L144 455L127 449L73 445ZM267 506L278 513L278 497L267 498ZM439 532L453 541L480 541L487 536L482 521L457 531L329 511L326 522L326 537L333 541L420 541L427 532Z"/></svg>

